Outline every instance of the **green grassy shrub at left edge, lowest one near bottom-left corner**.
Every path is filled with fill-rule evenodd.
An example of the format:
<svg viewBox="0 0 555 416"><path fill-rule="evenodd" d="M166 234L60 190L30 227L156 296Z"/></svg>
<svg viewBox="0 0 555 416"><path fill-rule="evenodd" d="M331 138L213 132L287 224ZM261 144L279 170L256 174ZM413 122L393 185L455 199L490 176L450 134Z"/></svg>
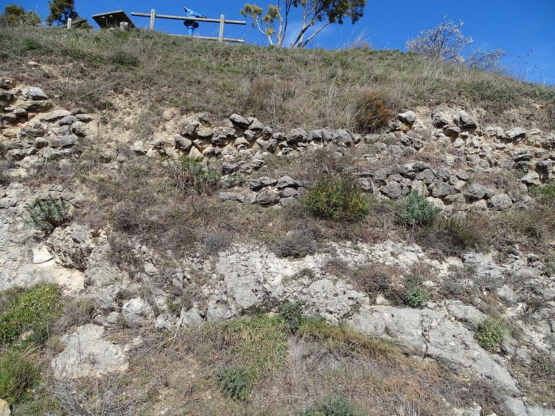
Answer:
<svg viewBox="0 0 555 416"><path fill-rule="evenodd" d="M33 361L21 352L6 351L0 355L0 398L17 403L33 386L38 372Z"/></svg>

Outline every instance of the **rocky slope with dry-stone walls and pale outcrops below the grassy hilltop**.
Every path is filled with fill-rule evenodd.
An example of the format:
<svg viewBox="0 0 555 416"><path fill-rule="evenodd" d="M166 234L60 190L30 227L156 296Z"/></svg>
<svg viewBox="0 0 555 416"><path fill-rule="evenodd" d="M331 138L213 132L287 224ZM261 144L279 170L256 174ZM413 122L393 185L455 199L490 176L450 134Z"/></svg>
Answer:
<svg viewBox="0 0 555 416"><path fill-rule="evenodd" d="M13 414L555 415L549 101L146 121L28 53L0 74Z"/></svg>

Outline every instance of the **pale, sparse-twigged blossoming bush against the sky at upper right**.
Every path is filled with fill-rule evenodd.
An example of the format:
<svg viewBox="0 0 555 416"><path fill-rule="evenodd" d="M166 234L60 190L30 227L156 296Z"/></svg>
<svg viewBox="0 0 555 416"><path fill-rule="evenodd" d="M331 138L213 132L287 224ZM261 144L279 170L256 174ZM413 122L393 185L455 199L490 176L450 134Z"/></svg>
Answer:
<svg viewBox="0 0 555 416"><path fill-rule="evenodd" d="M464 22L454 23L443 17L443 21L435 28L420 32L420 35L407 42L407 50L416 52L429 60L445 60L453 64L466 65L471 68L493 70L499 67L499 60L505 55L502 49L495 51L481 51L470 53L468 57L463 52L474 42L472 37L466 37L461 32Z"/></svg>

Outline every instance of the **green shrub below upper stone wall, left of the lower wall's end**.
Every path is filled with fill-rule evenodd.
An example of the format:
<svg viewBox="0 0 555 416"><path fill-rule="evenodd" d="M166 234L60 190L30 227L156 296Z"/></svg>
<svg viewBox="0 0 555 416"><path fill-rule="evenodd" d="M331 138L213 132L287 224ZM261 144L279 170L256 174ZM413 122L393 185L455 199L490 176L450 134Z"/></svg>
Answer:
<svg viewBox="0 0 555 416"><path fill-rule="evenodd" d="M194 157L182 156L170 171L176 188L185 193L212 193L219 187L220 173L210 167L204 168Z"/></svg>

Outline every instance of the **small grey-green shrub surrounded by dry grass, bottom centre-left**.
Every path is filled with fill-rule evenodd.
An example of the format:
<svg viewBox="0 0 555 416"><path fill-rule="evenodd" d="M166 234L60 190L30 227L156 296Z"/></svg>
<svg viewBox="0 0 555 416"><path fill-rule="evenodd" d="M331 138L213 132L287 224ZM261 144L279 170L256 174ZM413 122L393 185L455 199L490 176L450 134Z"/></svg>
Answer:
<svg viewBox="0 0 555 416"><path fill-rule="evenodd" d="M214 379L223 397L247 401L257 374L252 368L244 365L226 365L214 371Z"/></svg>

